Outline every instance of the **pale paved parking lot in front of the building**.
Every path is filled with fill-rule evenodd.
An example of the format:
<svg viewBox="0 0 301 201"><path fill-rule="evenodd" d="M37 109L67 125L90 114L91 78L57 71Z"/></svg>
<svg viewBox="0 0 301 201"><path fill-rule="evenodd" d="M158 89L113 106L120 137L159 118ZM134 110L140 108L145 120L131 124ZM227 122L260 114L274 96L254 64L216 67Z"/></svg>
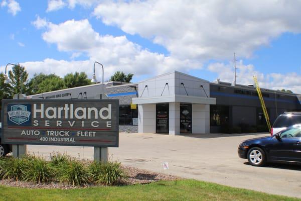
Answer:
<svg viewBox="0 0 301 201"><path fill-rule="evenodd" d="M271 164L253 167L246 159L238 157L237 147L242 140L267 135L120 133L119 148L109 148L109 153L113 160L124 165L301 198L301 166ZM28 145L28 151L44 156L59 151L93 159L92 147ZM168 170L163 169L164 162L168 162Z"/></svg>

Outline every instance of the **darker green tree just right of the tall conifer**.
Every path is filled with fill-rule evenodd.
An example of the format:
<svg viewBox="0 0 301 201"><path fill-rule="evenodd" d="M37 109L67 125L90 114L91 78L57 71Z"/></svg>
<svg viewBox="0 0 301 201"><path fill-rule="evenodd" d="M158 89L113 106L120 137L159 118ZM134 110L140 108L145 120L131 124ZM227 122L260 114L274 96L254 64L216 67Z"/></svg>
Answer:
<svg viewBox="0 0 301 201"><path fill-rule="evenodd" d="M46 79L52 79L55 77L60 78L56 74L49 74L49 75L46 75L44 73L35 74L34 77L29 81L29 94L40 93L40 91L41 91L40 84ZM43 92L46 92L44 90L46 90L45 88L43 88Z"/></svg>

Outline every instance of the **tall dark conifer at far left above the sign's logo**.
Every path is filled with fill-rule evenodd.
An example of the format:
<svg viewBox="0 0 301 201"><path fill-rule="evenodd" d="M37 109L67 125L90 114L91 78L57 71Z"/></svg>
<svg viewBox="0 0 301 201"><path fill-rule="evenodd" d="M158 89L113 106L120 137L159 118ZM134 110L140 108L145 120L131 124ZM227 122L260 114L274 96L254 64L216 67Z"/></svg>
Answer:
<svg viewBox="0 0 301 201"><path fill-rule="evenodd" d="M28 84L28 73L25 70L24 66L17 64L13 67L12 70L9 71L9 78L11 80L11 89L12 93L19 94L19 93L27 93L29 90Z"/></svg>

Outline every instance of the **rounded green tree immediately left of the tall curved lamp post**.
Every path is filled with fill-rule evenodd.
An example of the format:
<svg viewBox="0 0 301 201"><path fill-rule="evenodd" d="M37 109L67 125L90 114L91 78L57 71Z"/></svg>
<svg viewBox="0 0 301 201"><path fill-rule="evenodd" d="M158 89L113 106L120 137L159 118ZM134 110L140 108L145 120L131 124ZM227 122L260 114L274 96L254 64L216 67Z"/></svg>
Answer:
<svg viewBox="0 0 301 201"><path fill-rule="evenodd" d="M68 73L64 77L64 85L66 88L72 88L76 86L84 86L84 85L89 85L91 84L91 80L88 79L88 76L85 72L75 72L73 73Z"/></svg>

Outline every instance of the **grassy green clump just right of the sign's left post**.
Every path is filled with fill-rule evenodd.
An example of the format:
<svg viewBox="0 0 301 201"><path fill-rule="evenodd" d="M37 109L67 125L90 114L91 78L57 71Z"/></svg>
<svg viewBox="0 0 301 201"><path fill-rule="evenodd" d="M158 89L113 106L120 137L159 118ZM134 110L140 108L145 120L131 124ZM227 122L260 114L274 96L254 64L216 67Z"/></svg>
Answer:
<svg viewBox="0 0 301 201"><path fill-rule="evenodd" d="M24 158L27 165L24 170L24 180L36 183L48 182L54 175L49 164L40 157Z"/></svg>

